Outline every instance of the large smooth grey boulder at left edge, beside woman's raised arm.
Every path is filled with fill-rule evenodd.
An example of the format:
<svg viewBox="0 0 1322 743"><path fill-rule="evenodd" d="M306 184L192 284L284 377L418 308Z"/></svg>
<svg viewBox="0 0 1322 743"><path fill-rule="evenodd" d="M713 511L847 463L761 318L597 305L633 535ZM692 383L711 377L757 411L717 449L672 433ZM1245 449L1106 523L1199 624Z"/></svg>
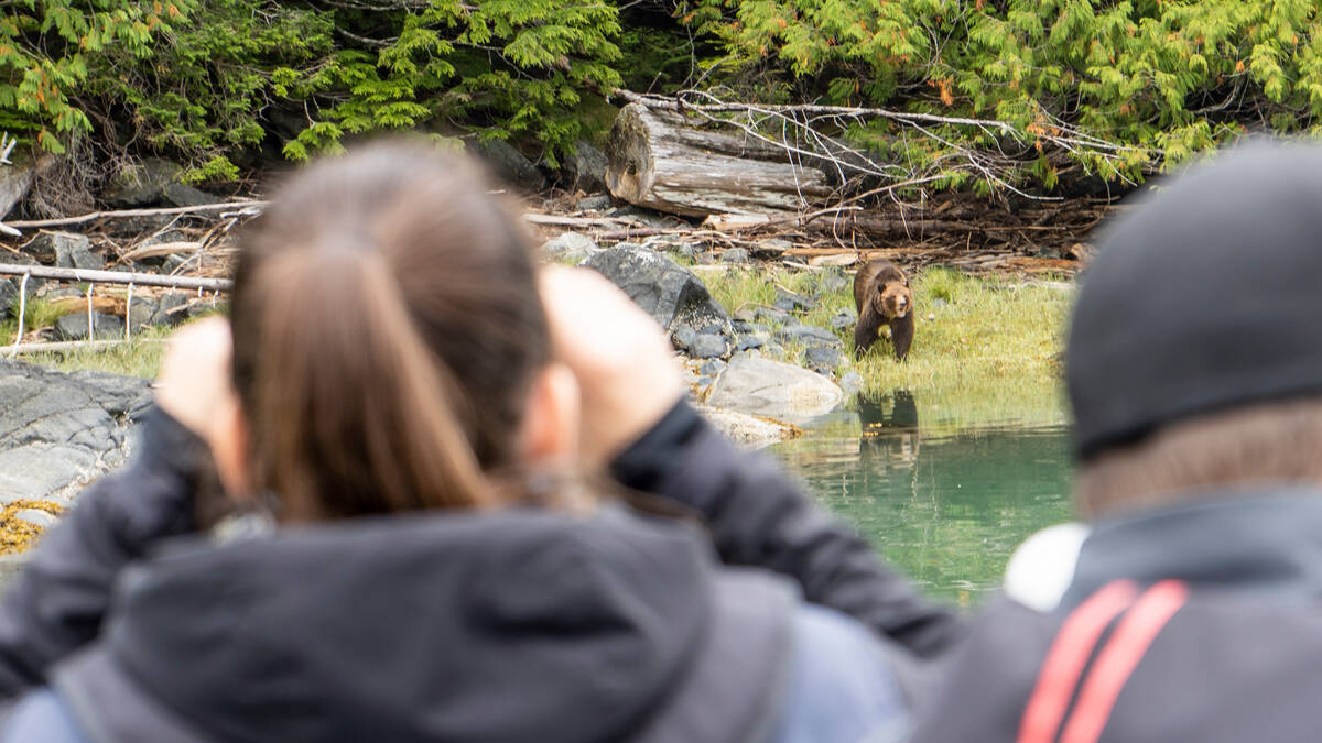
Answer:
<svg viewBox="0 0 1322 743"><path fill-rule="evenodd" d="M70 492L124 461L147 379L0 360L0 502Z"/></svg>

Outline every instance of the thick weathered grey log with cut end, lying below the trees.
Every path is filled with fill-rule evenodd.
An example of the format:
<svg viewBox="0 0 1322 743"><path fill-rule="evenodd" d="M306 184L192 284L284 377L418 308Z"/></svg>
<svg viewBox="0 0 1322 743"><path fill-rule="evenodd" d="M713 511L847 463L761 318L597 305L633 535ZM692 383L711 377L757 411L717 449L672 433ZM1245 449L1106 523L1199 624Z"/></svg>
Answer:
<svg viewBox="0 0 1322 743"><path fill-rule="evenodd" d="M639 103L615 119L607 155L612 194L686 217L800 212L832 193L825 173L787 163L783 148Z"/></svg>

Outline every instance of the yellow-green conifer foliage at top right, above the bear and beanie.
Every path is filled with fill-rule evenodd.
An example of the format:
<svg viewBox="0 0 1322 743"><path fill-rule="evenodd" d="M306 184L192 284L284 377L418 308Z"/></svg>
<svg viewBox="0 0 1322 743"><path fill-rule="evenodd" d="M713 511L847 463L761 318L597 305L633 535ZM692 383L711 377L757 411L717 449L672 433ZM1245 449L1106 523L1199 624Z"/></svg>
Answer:
<svg viewBox="0 0 1322 743"><path fill-rule="evenodd" d="M1315 0L695 0L683 17L720 38L744 95L997 119L1030 136L1068 123L1136 147L1118 160L1039 147L1022 175L1048 188L1071 159L1140 176L1244 131L1322 134ZM999 144L969 127L933 134ZM853 135L896 145L886 122ZM899 147L916 160L951 151L931 137Z"/></svg>

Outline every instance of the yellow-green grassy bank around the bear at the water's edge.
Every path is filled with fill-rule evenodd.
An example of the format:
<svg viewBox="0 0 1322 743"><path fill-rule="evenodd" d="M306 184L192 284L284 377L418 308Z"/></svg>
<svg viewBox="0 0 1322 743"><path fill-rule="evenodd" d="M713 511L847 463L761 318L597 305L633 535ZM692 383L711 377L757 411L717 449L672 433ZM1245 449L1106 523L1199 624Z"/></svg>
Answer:
<svg viewBox="0 0 1322 743"><path fill-rule="evenodd" d="M727 309L771 305L776 286L818 296L814 309L796 319L830 328L842 309L854 311L851 286L821 291L822 275L779 268L731 267L699 271ZM1060 411L1059 361L1071 292L1013 278L974 278L947 268L911 276L916 307L914 346L904 362L888 340L879 340L858 362L850 357L837 375L857 370L863 395L904 389L932 406L924 418L952 424L1001 419L1055 420ZM846 356L853 325L837 331ZM787 361L804 348L787 344ZM958 401L941 409L939 401Z"/></svg>

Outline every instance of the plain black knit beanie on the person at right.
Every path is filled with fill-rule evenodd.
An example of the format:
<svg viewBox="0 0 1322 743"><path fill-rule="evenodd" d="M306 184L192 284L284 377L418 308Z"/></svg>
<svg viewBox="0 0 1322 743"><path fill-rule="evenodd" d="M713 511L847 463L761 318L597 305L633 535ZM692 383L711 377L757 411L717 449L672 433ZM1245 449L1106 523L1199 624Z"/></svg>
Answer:
<svg viewBox="0 0 1322 743"><path fill-rule="evenodd" d="M1080 459L1199 414L1322 394L1322 148L1240 147L1132 209L1069 327Z"/></svg>

